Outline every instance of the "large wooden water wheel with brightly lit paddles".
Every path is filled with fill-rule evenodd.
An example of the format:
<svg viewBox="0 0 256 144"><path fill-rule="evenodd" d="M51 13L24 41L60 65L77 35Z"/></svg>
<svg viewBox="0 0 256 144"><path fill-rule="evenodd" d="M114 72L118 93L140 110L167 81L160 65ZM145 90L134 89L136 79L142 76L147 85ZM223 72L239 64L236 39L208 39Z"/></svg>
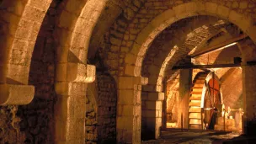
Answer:
<svg viewBox="0 0 256 144"><path fill-rule="evenodd" d="M214 72L199 72L189 97L189 129L213 130L218 105L222 104L219 78Z"/></svg>

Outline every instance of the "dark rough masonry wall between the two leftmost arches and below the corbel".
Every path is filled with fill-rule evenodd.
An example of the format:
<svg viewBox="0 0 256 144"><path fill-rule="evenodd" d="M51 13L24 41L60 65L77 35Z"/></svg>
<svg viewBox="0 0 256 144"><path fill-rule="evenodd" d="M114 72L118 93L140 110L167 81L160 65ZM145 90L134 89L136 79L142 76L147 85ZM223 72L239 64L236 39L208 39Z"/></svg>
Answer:
<svg viewBox="0 0 256 144"><path fill-rule="evenodd" d="M32 54L29 85L35 86L35 98L27 105L0 108L3 112L0 127L5 131L0 134L0 143L51 144L54 141L56 46L52 33L59 2L51 3Z"/></svg>

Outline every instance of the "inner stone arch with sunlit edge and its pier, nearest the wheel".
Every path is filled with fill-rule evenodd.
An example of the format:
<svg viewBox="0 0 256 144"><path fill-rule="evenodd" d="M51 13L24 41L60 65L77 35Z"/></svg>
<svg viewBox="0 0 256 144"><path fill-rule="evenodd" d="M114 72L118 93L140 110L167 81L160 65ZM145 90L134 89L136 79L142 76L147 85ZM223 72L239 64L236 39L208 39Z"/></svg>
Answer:
<svg viewBox="0 0 256 144"><path fill-rule="evenodd" d="M158 93L158 95L163 94L161 92L163 92L162 86L166 68L170 66L172 67L181 57L186 56L189 51L192 51L196 45L199 45L209 36L211 37L218 34L220 29L226 25L225 23L219 24L220 21L215 17L199 17L197 19L197 22L195 22L194 19L184 19L186 20L184 21L184 24L189 26L184 27L184 25L178 23L177 25L180 25L182 29L175 29L175 25L166 29L167 31L175 29L175 35L169 35L168 32L166 32L157 36L159 41L162 41L163 45L155 45L157 43L154 43L154 41L151 46L152 48L156 46L157 51L152 49L147 51L148 55L143 61L142 74L144 75L142 75L142 77L148 77L149 83L142 86L142 92L144 92L141 96L142 103L146 103L146 106L142 105L142 120L144 120L144 122L141 125L144 125L144 127L147 128L147 131L155 133L156 137L160 134L162 115L147 115L147 113L152 111L152 108L148 107L147 103L160 103L159 105L162 105L161 103L163 99L152 99L150 97L152 97L152 93ZM193 26L190 26L190 24ZM181 35L185 36L182 37ZM168 38L162 40L161 37ZM158 40L157 38L156 40ZM168 42L164 43L163 41ZM151 55L152 51L156 56ZM156 57L157 60L155 61ZM162 113L162 109L158 108L153 110L157 111L157 113ZM156 124L152 123L151 125L148 125L149 122L147 121L149 120L155 120ZM152 129L152 125L155 125L155 127L153 127L154 129Z"/></svg>

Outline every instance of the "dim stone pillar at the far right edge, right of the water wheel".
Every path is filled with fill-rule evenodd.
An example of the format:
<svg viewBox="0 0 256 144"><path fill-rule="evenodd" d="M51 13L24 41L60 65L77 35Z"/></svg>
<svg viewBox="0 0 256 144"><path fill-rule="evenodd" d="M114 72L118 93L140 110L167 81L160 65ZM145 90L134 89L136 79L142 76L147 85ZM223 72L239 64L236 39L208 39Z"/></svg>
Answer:
<svg viewBox="0 0 256 144"><path fill-rule="evenodd" d="M256 61L256 46L252 40L238 43L242 52L243 77L243 133L248 136L256 135L256 66L250 63Z"/></svg>

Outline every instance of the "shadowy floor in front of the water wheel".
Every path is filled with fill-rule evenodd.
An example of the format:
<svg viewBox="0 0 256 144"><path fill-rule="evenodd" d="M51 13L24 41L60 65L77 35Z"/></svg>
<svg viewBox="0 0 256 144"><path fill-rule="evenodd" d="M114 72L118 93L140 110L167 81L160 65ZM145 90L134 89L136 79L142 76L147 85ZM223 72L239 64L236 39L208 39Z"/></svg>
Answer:
<svg viewBox="0 0 256 144"><path fill-rule="evenodd" d="M221 144L240 135L240 132L162 131L158 140L142 141L141 144Z"/></svg>

